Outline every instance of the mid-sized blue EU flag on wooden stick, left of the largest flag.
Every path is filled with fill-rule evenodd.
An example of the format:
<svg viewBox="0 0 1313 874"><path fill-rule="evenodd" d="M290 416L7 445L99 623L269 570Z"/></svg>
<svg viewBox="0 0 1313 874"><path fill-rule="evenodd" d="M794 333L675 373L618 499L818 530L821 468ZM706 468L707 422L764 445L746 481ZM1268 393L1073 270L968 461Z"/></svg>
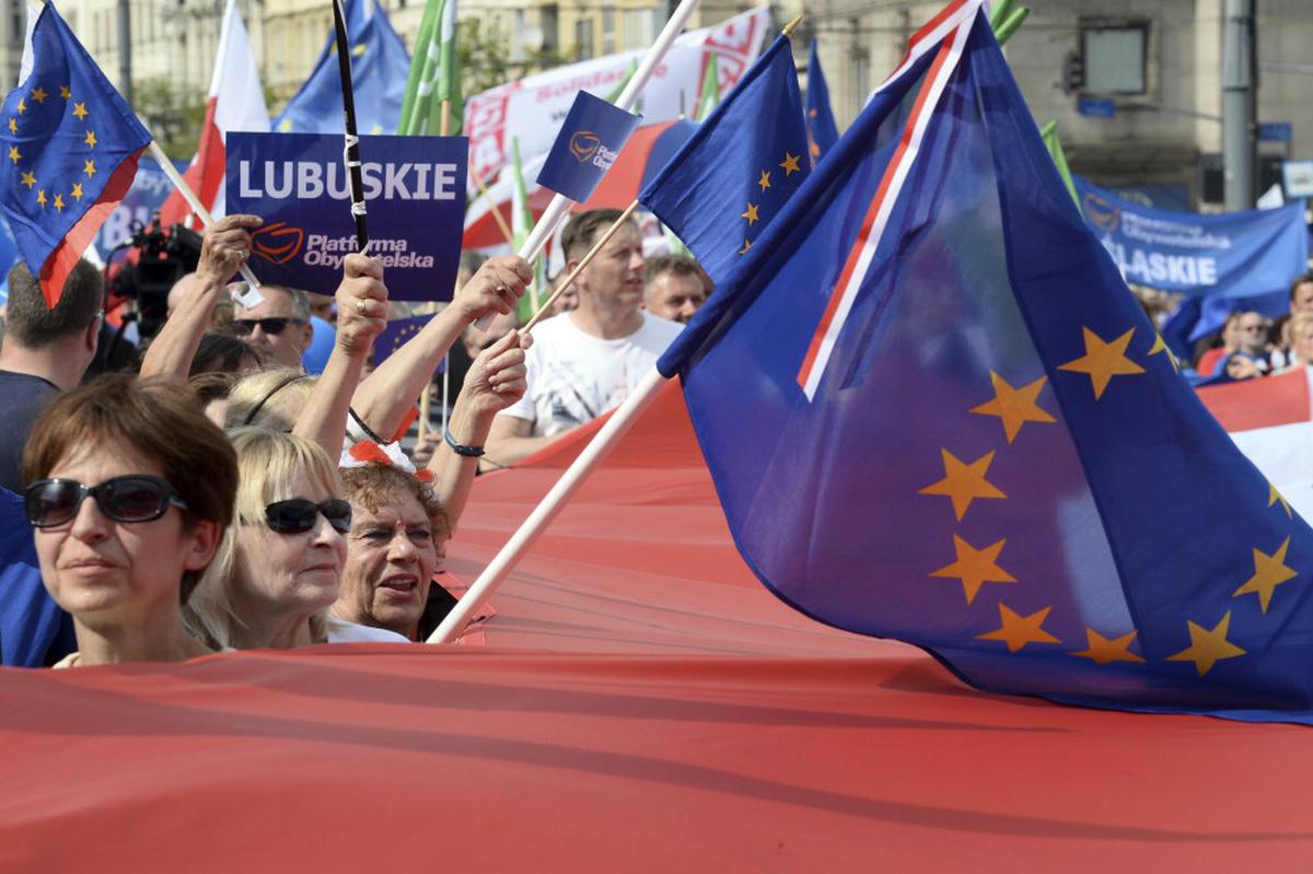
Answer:
<svg viewBox="0 0 1313 874"><path fill-rule="evenodd" d="M721 282L810 172L802 96L779 37L638 193Z"/></svg>

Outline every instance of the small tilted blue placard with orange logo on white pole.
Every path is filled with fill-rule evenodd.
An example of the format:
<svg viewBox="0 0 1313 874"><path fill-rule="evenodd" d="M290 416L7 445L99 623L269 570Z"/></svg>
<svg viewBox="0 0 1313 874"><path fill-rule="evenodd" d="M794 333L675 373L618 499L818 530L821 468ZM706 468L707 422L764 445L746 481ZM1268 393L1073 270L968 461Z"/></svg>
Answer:
<svg viewBox="0 0 1313 874"><path fill-rule="evenodd" d="M583 203L642 118L580 91L538 172L538 185Z"/></svg>

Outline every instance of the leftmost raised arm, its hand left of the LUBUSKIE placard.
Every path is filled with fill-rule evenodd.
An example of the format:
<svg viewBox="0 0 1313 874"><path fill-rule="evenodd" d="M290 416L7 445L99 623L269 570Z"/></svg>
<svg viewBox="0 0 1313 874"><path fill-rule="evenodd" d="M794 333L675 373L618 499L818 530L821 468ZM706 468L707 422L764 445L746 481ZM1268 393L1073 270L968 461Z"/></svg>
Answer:
<svg viewBox="0 0 1313 874"><path fill-rule="evenodd" d="M142 360L142 377L186 377L201 337L210 327L214 306L227 281L251 253L249 228L264 223L259 215L225 215L205 228L196 273L179 283L179 303Z"/></svg>

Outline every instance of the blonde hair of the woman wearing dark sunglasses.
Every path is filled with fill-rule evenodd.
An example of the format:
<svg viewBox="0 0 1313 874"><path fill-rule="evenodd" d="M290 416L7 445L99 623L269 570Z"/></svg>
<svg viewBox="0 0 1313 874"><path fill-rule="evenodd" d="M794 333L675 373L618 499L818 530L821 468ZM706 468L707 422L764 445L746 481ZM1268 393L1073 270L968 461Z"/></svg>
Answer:
<svg viewBox="0 0 1313 874"><path fill-rule="evenodd" d="M330 495L341 496L341 478L328 454L315 442L265 428L236 428L228 433L238 454L238 492L232 525L183 610L186 626L215 648L232 647L246 623L232 609L236 584L238 534L243 524L264 524L264 508L289 497L288 486L298 474ZM327 609L310 617L315 643L327 638Z"/></svg>

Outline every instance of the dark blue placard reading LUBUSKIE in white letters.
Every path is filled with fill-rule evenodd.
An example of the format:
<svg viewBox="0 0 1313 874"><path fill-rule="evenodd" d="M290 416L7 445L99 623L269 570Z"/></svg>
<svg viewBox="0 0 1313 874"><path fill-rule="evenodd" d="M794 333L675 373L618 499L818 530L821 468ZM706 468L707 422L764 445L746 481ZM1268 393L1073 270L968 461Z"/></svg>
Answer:
<svg viewBox="0 0 1313 874"><path fill-rule="evenodd" d="M264 219L251 268L263 282L332 294L356 251L343 138L227 138L227 211ZM463 136L361 136L369 253L394 301L450 301L465 224Z"/></svg>

